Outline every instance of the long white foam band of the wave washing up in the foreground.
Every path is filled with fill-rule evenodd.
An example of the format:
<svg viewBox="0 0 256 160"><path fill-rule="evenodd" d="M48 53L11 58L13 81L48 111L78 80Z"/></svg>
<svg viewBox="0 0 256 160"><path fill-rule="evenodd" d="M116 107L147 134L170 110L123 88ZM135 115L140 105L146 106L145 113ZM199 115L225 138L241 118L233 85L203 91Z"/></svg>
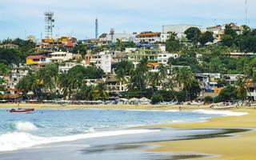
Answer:
<svg viewBox="0 0 256 160"><path fill-rule="evenodd" d="M99 137L109 137L124 134L146 134L150 132L157 132L160 130L114 130L114 131L104 131L98 133L90 134L77 134L69 135L63 137L40 137L24 132L13 132L0 135L0 151L11 151L19 150L23 148L29 148L31 146L37 146L42 144L54 143L54 142L69 142L78 139L85 138L99 138Z"/></svg>

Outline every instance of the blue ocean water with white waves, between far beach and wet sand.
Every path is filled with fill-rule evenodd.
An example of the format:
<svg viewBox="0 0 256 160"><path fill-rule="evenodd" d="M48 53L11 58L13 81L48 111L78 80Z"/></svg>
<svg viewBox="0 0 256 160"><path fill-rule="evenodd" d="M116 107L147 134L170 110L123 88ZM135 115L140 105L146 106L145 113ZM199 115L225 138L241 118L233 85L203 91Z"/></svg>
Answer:
<svg viewBox="0 0 256 160"><path fill-rule="evenodd" d="M35 110L11 114L0 110L0 152L85 138L147 134L159 130L132 126L166 122L200 122L207 118L245 113L215 110Z"/></svg>

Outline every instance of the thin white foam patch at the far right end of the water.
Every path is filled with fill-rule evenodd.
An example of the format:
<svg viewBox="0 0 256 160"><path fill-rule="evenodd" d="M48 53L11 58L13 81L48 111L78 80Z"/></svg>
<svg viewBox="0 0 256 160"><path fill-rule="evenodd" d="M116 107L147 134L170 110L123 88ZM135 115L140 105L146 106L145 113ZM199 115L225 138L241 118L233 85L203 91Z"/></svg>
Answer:
<svg viewBox="0 0 256 160"><path fill-rule="evenodd" d="M192 112L200 114L219 114L223 116L242 116L248 114L246 112L233 112L230 110L193 110Z"/></svg>

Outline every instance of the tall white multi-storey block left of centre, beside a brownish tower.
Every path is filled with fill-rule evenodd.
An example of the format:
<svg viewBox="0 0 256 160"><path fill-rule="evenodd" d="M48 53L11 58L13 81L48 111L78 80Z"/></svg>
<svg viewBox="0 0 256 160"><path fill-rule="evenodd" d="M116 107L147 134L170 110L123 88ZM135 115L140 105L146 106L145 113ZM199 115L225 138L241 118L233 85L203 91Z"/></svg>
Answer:
<svg viewBox="0 0 256 160"><path fill-rule="evenodd" d="M94 63L95 66L100 67L105 73L111 72L111 54L100 52L99 54L90 55L90 63Z"/></svg>

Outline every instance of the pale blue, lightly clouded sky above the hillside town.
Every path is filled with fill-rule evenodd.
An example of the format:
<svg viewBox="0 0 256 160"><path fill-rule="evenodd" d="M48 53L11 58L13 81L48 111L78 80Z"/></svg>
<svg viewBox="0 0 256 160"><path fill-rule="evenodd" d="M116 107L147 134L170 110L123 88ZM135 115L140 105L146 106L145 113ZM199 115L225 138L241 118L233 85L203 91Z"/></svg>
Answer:
<svg viewBox="0 0 256 160"><path fill-rule="evenodd" d="M78 39L98 33L162 31L162 25L246 23L246 0L0 0L0 40L44 38L44 12L54 12L54 35ZM248 26L256 26L256 0L248 2Z"/></svg>

